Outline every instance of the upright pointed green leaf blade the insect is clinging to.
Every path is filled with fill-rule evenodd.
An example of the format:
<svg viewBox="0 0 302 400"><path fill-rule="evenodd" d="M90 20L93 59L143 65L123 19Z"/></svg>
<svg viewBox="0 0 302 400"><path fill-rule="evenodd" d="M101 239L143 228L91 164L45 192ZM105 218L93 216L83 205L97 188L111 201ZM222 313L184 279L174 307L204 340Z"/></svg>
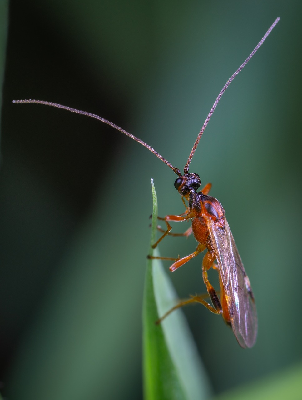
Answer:
<svg viewBox="0 0 302 400"><path fill-rule="evenodd" d="M152 180L151 244L155 242L157 200ZM150 250L150 255L152 249ZM158 252L156 251L156 256ZM205 399L208 378L181 310L155 321L177 303L159 260L148 260L143 306L144 395L152 399Z"/></svg>

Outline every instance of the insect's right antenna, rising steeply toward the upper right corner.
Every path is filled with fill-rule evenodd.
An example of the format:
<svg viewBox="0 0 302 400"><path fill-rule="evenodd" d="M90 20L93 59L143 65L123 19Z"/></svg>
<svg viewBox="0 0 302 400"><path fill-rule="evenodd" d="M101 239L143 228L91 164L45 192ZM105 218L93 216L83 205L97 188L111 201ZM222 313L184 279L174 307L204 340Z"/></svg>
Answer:
<svg viewBox="0 0 302 400"><path fill-rule="evenodd" d="M229 84L232 82L232 80L235 78L236 75L239 74L239 72L242 70L242 68L250 61L250 59L252 58L252 56L254 56L254 54L256 53L256 51L258 50L258 48L262 45L262 43L264 42L264 40L268 37L268 35L270 34L270 32L272 32L273 28L278 24L280 18L278 17L276 19L276 21L272 24L272 26L270 27L270 29L266 32L266 34L263 36L263 38L260 40L260 42L257 44L257 46L254 48L254 50L251 52L251 54L248 56L248 58L244 61L243 64L240 65L240 67L238 68L238 70L230 77L230 79L228 80L228 82L226 82L226 84L224 85L224 87L222 88L221 92L218 94L213 107L211 108L208 116L206 117L206 120L197 136L196 142L194 143L194 146L192 148L192 151L190 152L190 156L188 158L188 161L186 163L186 165L184 166L184 174L186 174L189 171L189 165L190 162L192 160L193 154L195 153L196 147L198 145L198 142L202 136L202 134L204 133L204 130L206 128L206 126L208 125L208 122L210 121L210 118L222 96L222 94L224 93L224 91L228 88Z"/></svg>

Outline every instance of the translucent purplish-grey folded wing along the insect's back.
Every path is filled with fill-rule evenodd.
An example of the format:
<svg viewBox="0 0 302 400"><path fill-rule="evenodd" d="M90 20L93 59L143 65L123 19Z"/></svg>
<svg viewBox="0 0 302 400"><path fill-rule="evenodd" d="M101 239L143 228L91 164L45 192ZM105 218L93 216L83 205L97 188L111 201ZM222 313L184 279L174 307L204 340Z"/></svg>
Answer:
<svg viewBox="0 0 302 400"><path fill-rule="evenodd" d="M241 347L256 342L258 322L252 288L224 217L224 229L208 226L224 287L232 329Z"/></svg>

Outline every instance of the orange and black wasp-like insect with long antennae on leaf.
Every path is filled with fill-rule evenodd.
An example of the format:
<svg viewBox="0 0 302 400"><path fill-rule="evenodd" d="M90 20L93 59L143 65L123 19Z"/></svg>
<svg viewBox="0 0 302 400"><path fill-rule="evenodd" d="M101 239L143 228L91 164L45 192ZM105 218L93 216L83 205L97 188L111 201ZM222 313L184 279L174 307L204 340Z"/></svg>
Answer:
<svg viewBox="0 0 302 400"><path fill-rule="evenodd" d="M244 63L236 70L231 78L226 82L221 92L218 94L207 118L200 130L196 142L189 155L188 161L184 166L184 174L181 174L180 170L164 157L162 157L154 148L143 142L136 136L133 136L126 130L113 124L112 122L89 112L76 110L68 106L62 106L61 104L47 102L43 100L14 100L14 103L38 103L57 108L63 108L65 110L76 112L78 114L90 116L96 118L105 124L108 124L136 140L144 147L148 148L153 154L155 154L160 160L167 164L176 173L178 178L174 182L176 190L182 197L182 202L186 207L186 211L180 215L167 215L164 218L159 218L166 223L166 230L162 231L162 236L152 246L155 248L158 243L171 231L170 222L179 222L192 220L192 226L186 232L184 236L189 236L193 233L196 238L198 245L196 250L184 258L164 258L164 257L149 257L149 258L160 258L166 260L174 260L174 263L170 266L170 271L175 271L180 266L186 264L192 258L198 254L206 251L202 261L202 278L206 285L208 296L211 299L212 305L208 304L204 300L205 296L191 296L188 300L183 300L169 310L160 321L162 321L170 312L176 308L180 308L190 303L203 304L208 310L214 314L221 314L226 324L232 327L234 335L241 347L250 348L256 342L258 322L257 312L255 306L255 300L250 286L250 281L244 270L241 258L239 256L234 238L230 231L230 227L224 216L225 212L222 205L214 197L209 196L208 193L211 188L211 184L207 184L201 191L197 192L201 182L198 174L189 172L189 165L197 148L198 142L206 128L222 94L228 88L229 84L235 78L235 76L242 70L242 68L248 63L252 56L256 53L258 48L263 44L264 40L268 37L274 26L278 23L280 18L277 18L269 30L266 32L264 37L260 40L256 48L252 51L250 56L244 61ZM215 263L215 260L217 264ZM214 290L212 284L208 280L208 270L213 268L218 271L219 282L220 282L220 296Z"/></svg>

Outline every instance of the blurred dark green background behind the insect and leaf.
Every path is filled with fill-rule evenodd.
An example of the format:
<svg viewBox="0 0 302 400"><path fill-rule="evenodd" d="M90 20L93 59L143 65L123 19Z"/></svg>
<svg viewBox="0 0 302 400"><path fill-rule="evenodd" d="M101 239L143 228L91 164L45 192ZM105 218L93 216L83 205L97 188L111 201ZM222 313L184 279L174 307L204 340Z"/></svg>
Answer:
<svg viewBox="0 0 302 400"><path fill-rule="evenodd" d="M183 211L176 175L139 144L90 118L12 100L99 114L181 169L218 92L277 16L222 97L190 168L212 182L226 210L256 297L256 346L242 350L222 318L201 306L184 312L214 395L299 363L301 2L12 0L9 11L2 393L142 397L151 178L159 214ZM160 252L184 256L195 246L192 237L167 238ZM204 292L201 260L170 274L180 297Z"/></svg>

